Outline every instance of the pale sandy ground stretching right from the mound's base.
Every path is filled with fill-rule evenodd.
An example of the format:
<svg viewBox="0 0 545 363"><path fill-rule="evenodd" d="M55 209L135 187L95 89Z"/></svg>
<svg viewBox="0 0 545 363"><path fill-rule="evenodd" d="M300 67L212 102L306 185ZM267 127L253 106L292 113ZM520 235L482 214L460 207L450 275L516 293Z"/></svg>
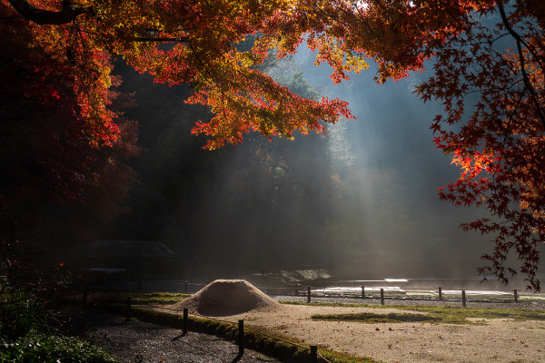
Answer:
<svg viewBox="0 0 545 363"><path fill-rule="evenodd" d="M312 314L399 309L282 305L220 319L277 331L309 345L322 345L384 362L545 362L545 321L491 319L486 325L431 323L365 324L312 320ZM414 311L407 311L414 313ZM219 317L216 317L219 318Z"/></svg>

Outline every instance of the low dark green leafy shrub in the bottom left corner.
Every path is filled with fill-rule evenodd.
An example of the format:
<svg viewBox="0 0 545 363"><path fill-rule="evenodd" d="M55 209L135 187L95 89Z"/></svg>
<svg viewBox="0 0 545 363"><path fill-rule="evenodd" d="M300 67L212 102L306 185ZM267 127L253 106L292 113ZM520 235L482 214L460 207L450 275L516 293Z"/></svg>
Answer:
<svg viewBox="0 0 545 363"><path fill-rule="evenodd" d="M0 361L25 363L116 362L104 349L78 338L31 333L15 341L0 338Z"/></svg>

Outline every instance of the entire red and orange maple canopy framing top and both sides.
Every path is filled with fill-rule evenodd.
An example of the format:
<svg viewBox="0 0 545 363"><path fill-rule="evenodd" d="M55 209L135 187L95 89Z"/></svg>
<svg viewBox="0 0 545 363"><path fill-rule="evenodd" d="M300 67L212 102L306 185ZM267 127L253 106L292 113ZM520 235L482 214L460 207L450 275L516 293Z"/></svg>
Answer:
<svg viewBox="0 0 545 363"><path fill-rule="evenodd" d="M520 270L531 288L540 288L545 10L539 0L0 4L4 34L10 34L5 39L14 39L6 43L40 60L29 57L16 65L23 74L3 67L3 79L25 83L21 99L40 100L62 113L56 120L65 118L66 127L54 130L84 140L91 149L83 154L119 140L119 113L111 107L115 59L159 83L190 83L187 102L213 112L212 120L193 128L208 136L210 149L241 142L246 132L292 138L293 132L323 132L322 122L352 118L342 100L305 99L260 71L267 57L293 54L303 40L316 64L332 67L334 83L367 68L369 59L379 66L377 83L421 71L431 60L433 75L416 93L443 104L431 128L438 148L461 167L460 179L441 189L441 199L490 212L490 218L463 225L495 236L493 253L484 256L490 265L481 272L507 282ZM249 42L251 49L241 46ZM510 251L520 267L504 266Z"/></svg>

